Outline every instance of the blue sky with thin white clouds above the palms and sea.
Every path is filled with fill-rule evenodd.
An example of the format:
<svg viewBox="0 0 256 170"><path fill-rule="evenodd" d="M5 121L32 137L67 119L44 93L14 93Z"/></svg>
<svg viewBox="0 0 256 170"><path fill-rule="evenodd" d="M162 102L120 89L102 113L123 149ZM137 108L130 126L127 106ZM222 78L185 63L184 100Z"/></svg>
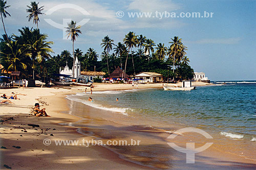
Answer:
<svg viewBox="0 0 256 170"><path fill-rule="evenodd" d="M4 18L7 33L18 34L22 27L34 27L26 17L27 5L31 0L7 0L12 16ZM74 4L90 15L83 15L76 9L59 9L51 15L41 15L39 29L54 41L53 50L60 54L72 51L70 39L63 39L62 30L49 25L44 19L52 19L62 24L63 19L77 22L90 19L81 27L82 34L75 42L75 48L86 52L94 48L100 55L100 43L105 35L122 42L124 35L133 31L136 35L151 38L156 44L169 45L170 38L179 36L187 46L187 57L195 71L203 71L210 80L256 80L256 1L254 0L133 0L133 1L37 1L45 6L44 12L60 4ZM123 11L123 17L116 12ZM128 12L214 12L212 18L130 18ZM4 34L3 26L0 33Z"/></svg>

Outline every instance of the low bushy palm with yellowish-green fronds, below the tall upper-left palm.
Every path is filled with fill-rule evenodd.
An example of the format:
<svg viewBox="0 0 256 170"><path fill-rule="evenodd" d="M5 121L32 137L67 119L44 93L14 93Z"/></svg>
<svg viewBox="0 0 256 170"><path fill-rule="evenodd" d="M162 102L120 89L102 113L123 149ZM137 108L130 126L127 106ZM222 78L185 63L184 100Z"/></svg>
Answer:
<svg viewBox="0 0 256 170"><path fill-rule="evenodd" d="M33 79L34 79L34 69L35 69L35 60L37 60L38 63L41 63L42 61L45 61L46 59L49 59L51 55L49 53L54 53L51 44L53 44L53 41L46 41L47 35L42 35L38 40L36 40L33 44L26 44L29 50L29 56L33 61Z"/></svg>

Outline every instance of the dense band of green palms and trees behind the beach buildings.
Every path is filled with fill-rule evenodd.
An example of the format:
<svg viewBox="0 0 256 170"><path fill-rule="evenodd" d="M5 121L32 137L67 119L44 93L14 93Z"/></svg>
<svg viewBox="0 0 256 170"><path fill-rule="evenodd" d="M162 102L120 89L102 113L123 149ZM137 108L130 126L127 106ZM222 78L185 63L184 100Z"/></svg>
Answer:
<svg viewBox="0 0 256 170"><path fill-rule="evenodd" d="M0 0L0 12L3 27L5 25L3 17L11 16L6 9L7 2ZM38 8L38 3L31 2L27 12L29 20L38 26L38 15L43 14L44 6ZM81 34L81 26L76 26L76 21L68 23L67 38L71 38L73 55L65 49L61 54L53 54L52 41L47 41L48 36L41 34L39 29L29 29L28 27L18 30L20 35L5 35L0 42L0 63L4 70L21 71L22 78L41 79L51 77L59 72L59 68L68 66L74 67L75 58L81 63L81 70L84 71L104 71L106 76L114 71L118 66L123 69L123 74L135 75L141 71L152 71L162 74L165 78L175 80L193 78L194 70L189 66L189 59L186 56L187 47L182 43L182 39L175 36L170 39L170 46L164 43L156 43L143 35L136 35L129 32L124 36L123 42L114 43L108 35L103 37L103 52L99 54L89 48L82 51L75 50L74 42ZM113 52L113 53L112 53ZM123 75L122 75L123 76ZM98 79L95 81L99 81Z"/></svg>

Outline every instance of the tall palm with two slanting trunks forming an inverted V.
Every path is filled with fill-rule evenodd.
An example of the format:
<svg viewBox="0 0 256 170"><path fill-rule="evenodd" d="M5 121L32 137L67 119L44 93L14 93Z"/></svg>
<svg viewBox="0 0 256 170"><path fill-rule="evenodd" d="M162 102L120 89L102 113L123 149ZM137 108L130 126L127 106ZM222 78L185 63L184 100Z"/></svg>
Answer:
<svg viewBox="0 0 256 170"><path fill-rule="evenodd" d="M126 47L128 47L128 53L127 53L127 57L126 57L126 60L125 60L125 66L124 66L124 71L123 71L123 74L125 74L129 52L130 52L130 50L132 52L132 48L136 47L137 36L135 35L134 32L130 31L127 35L125 35L125 38L123 39L123 42L126 45ZM132 60L133 60L133 55L132 55ZM134 69L134 75L135 75L134 62L133 62L133 69ZM122 74L122 78L123 78L123 74Z"/></svg>

